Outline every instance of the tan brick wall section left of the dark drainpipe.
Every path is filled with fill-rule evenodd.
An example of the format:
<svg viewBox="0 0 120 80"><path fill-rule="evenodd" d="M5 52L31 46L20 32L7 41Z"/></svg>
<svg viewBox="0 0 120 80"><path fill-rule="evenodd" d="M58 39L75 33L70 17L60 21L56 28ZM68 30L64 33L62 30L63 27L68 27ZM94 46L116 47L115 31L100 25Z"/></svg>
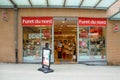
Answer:
<svg viewBox="0 0 120 80"><path fill-rule="evenodd" d="M14 11L6 9L8 22L2 20L0 9L0 62L15 62Z"/></svg>

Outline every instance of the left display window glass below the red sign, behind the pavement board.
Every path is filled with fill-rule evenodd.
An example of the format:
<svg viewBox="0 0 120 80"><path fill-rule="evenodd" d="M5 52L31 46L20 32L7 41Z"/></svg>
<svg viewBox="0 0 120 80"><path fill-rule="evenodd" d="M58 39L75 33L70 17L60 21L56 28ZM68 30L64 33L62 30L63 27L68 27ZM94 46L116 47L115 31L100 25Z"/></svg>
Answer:
<svg viewBox="0 0 120 80"><path fill-rule="evenodd" d="M23 62L41 62L42 48L52 50L52 27L23 27Z"/></svg>

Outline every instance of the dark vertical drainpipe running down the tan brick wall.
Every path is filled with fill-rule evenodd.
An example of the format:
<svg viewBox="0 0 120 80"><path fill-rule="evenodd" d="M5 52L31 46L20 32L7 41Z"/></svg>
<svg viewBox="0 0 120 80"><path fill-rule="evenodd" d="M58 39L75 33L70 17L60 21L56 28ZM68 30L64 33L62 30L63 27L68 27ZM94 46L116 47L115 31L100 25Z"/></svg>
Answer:
<svg viewBox="0 0 120 80"><path fill-rule="evenodd" d="M18 8L14 8L15 62L18 63Z"/></svg>

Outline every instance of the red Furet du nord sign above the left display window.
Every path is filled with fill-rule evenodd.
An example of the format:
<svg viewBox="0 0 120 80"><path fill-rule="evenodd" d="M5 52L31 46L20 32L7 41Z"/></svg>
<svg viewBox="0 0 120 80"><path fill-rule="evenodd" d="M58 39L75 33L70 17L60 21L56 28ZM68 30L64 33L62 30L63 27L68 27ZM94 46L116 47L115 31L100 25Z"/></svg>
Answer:
<svg viewBox="0 0 120 80"><path fill-rule="evenodd" d="M22 17L22 26L51 26L52 17Z"/></svg>

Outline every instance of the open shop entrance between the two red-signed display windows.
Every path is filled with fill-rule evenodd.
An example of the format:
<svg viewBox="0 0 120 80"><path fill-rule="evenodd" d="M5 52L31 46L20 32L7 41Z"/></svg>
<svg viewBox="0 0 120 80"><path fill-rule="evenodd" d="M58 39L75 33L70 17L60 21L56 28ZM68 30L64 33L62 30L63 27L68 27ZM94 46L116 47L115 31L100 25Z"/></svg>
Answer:
<svg viewBox="0 0 120 80"><path fill-rule="evenodd" d="M74 19L74 18L73 18ZM54 21L54 59L55 63L76 62L77 19L57 18Z"/></svg>

